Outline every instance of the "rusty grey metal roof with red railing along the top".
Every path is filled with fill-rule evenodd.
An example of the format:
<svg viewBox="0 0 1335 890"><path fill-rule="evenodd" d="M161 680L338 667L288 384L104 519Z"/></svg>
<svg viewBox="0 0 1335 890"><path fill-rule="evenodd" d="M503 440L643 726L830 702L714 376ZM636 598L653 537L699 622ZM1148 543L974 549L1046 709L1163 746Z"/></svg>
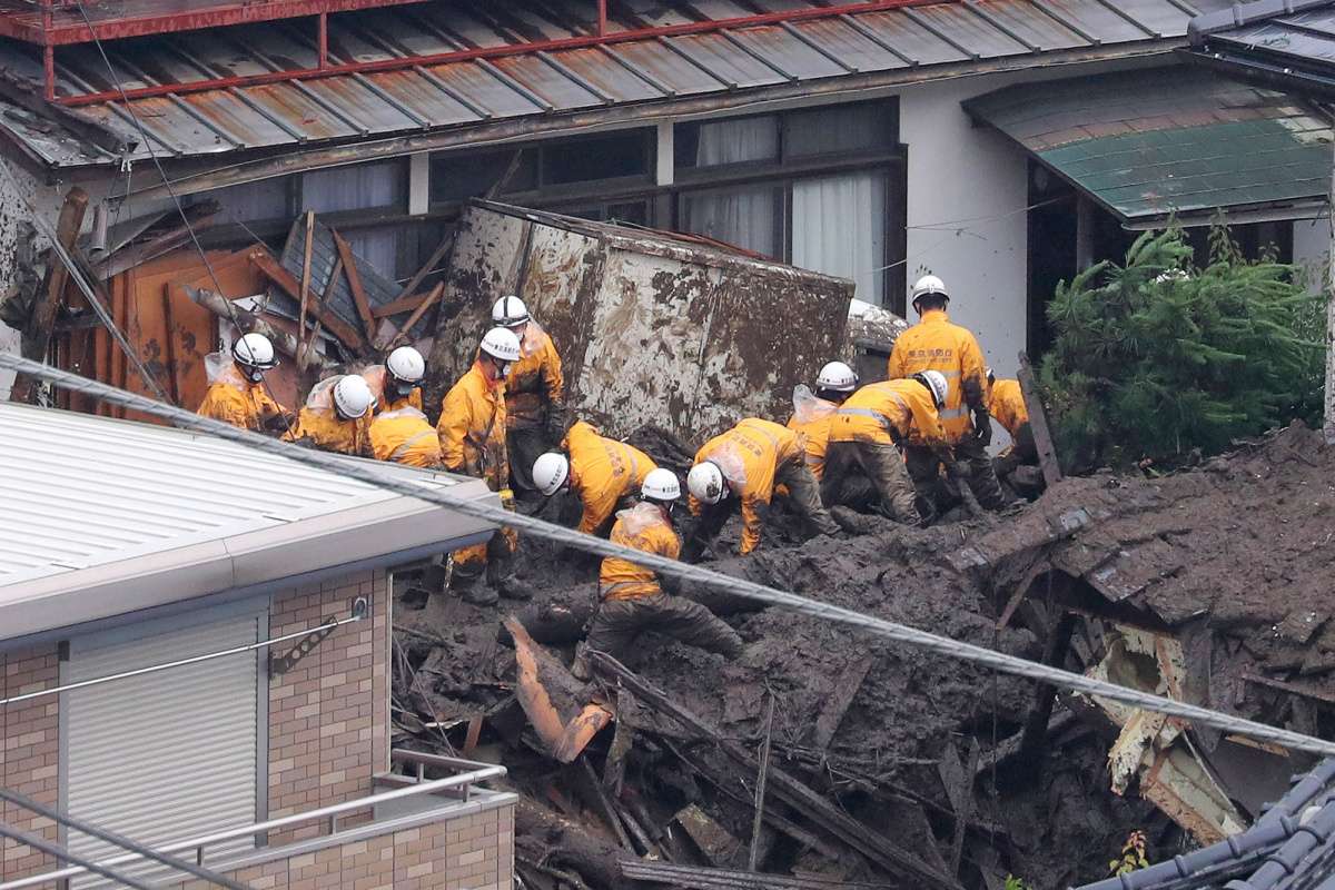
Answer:
<svg viewBox="0 0 1335 890"><path fill-rule="evenodd" d="M1196 0L1219 5L1219 0ZM478 47L587 36L591 3L551 0L541 9L466 0L340 13L330 20L331 64L402 60ZM785 0L770 8L818 8L818 0ZM1196 13L1187 0L980 0L860 12L720 32L627 40L503 59L402 67L396 71L311 77L267 85L135 99L131 108L158 151L174 156L271 149L283 145L467 127L483 121L630 103L668 103L724 89L765 89L792 83L1003 59L1033 59L1064 49L1181 37ZM748 16L753 4L613 4L614 31ZM116 77L93 45L56 53L57 93L88 95L163 83L264 75L312 68L314 28L292 21L219 28L105 44ZM1112 53L1115 55L1115 52ZM0 67L41 80L35 49L0 43ZM119 103L81 108L124 131ZM111 163L108 152L52 133L24 115L0 115L28 149L53 165ZM135 157L147 157L139 145Z"/></svg>

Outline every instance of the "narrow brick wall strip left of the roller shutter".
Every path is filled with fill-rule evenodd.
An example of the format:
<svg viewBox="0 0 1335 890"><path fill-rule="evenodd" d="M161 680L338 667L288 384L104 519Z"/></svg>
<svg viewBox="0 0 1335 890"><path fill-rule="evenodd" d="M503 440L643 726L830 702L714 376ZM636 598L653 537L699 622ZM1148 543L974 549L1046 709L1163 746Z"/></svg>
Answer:
<svg viewBox="0 0 1335 890"><path fill-rule="evenodd" d="M0 698L21 695L56 686L60 663L56 647L29 651L0 652ZM0 706L0 783L4 787L33 798L39 803L56 806L60 801L60 701L56 695ZM35 815L31 810L0 805L0 822L24 831L40 834L47 841L59 841L56 825ZM32 847L11 841L0 841L0 879L12 881L55 867L55 861Z"/></svg>

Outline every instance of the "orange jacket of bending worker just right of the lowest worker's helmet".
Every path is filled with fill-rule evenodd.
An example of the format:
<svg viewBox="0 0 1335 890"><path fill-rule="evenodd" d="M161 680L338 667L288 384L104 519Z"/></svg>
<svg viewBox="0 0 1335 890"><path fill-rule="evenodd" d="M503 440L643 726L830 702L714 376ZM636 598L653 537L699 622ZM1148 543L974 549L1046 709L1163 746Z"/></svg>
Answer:
<svg viewBox="0 0 1335 890"><path fill-rule="evenodd" d="M760 543L760 514L756 507L768 504L774 495L774 475L789 460L804 460L801 439L788 427L772 420L746 418L736 427L714 436L696 452L696 463L713 460L724 471L732 494L742 502L742 554ZM690 499L690 511L700 514L701 504Z"/></svg>

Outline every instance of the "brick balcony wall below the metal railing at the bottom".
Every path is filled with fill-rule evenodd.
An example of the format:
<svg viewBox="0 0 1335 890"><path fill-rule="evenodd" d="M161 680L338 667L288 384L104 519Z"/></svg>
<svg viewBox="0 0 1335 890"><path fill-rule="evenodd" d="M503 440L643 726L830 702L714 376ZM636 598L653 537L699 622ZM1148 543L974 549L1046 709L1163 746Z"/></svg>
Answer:
<svg viewBox="0 0 1335 890"><path fill-rule="evenodd" d="M230 873L252 890L513 890L514 805ZM211 890L203 881L183 890Z"/></svg>

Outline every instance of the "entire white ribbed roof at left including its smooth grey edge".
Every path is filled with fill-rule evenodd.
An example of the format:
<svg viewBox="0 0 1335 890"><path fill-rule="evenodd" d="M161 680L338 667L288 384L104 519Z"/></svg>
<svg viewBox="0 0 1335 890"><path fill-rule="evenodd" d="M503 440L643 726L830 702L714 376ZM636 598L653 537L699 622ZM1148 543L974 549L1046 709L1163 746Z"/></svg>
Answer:
<svg viewBox="0 0 1335 890"><path fill-rule="evenodd" d="M0 402L0 642L490 528L183 430Z"/></svg>

